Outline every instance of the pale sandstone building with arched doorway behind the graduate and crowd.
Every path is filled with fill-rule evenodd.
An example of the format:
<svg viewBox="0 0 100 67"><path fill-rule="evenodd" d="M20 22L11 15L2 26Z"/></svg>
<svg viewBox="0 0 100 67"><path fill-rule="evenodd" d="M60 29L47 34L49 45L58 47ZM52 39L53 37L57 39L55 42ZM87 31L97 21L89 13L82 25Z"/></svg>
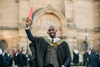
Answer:
<svg viewBox="0 0 100 67"><path fill-rule="evenodd" d="M27 48L25 19L31 6L34 36L48 36L48 26L55 25L57 36L68 42L71 52L74 47L100 52L100 0L0 0L2 49Z"/></svg>

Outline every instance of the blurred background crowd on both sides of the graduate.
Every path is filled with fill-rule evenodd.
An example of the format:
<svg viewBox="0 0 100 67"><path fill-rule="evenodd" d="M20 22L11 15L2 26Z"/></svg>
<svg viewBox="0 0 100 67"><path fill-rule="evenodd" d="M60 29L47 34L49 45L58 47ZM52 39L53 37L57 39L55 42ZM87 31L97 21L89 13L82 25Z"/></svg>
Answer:
<svg viewBox="0 0 100 67"><path fill-rule="evenodd" d="M100 56L95 49L89 48L82 53L75 48L73 63L75 66L100 67ZM32 54L23 48L13 51L12 54L0 48L0 67L33 67Z"/></svg>

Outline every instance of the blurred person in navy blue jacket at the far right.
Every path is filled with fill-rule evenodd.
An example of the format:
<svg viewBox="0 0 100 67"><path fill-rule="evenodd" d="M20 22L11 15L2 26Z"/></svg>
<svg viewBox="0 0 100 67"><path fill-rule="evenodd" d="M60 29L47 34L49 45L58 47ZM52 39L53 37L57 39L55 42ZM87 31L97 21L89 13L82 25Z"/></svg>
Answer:
<svg viewBox="0 0 100 67"><path fill-rule="evenodd" d="M98 57L95 50L93 50L92 54L89 56L89 65L90 67L98 67Z"/></svg>

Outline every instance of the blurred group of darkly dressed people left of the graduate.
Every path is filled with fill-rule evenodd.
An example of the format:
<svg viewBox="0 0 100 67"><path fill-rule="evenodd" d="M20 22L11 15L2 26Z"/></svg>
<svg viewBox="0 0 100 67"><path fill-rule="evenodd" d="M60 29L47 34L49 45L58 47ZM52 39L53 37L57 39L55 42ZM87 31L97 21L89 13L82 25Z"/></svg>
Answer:
<svg viewBox="0 0 100 67"><path fill-rule="evenodd" d="M12 55L0 48L0 67L32 67L32 55L26 50L13 51Z"/></svg>

